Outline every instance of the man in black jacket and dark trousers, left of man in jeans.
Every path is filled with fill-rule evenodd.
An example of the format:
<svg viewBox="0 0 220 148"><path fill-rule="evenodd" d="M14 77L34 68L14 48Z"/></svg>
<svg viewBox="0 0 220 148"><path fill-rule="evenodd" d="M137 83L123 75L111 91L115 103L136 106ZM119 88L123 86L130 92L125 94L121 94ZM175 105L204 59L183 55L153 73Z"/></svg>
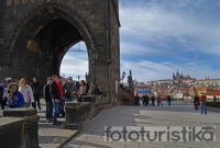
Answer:
<svg viewBox="0 0 220 148"><path fill-rule="evenodd" d="M50 77L50 78L47 78L47 83L43 88L43 96L46 102L46 122L47 123L53 122L53 100L52 100L52 95L50 92L50 87L52 83L53 83L53 80Z"/></svg>

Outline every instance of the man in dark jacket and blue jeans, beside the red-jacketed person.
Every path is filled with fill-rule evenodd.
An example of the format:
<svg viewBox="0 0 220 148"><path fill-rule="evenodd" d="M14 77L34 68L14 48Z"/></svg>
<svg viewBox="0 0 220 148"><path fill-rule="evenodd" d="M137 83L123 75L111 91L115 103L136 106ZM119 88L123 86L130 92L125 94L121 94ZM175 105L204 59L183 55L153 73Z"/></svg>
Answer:
<svg viewBox="0 0 220 148"><path fill-rule="evenodd" d="M59 115L58 105L61 103L61 94L55 79L53 79L53 82L50 84L50 94L53 101L53 124L59 125L61 123L57 121L57 116Z"/></svg>

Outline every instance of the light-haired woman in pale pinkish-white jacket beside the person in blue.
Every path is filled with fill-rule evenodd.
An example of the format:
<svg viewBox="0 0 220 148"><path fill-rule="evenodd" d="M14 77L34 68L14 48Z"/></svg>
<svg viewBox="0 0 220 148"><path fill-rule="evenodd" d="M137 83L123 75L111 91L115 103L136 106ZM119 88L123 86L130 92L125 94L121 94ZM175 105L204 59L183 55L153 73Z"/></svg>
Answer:
<svg viewBox="0 0 220 148"><path fill-rule="evenodd" d="M19 81L19 91L22 93L24 98L24 106L33 106L36 109L36 103L34 101L34 95L31 87L28 84L28 80L25 78L22 78Z"/></svg>

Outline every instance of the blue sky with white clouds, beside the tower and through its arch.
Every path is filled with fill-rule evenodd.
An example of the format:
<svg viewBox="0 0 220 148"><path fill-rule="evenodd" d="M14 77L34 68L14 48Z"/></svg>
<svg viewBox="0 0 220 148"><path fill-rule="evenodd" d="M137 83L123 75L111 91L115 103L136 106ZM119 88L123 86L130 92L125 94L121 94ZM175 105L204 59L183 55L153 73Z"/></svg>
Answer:
<svg viewBox="0 0 220 148"><path fill-rule="evenodd" d="M119 12L121 72L132 68L138 81L169 79L176 70L220 78L220 0L120 0ZM65 60L76 58L69 68L82 75L87 55L74 54L62 69L70 75Z"/></svg>

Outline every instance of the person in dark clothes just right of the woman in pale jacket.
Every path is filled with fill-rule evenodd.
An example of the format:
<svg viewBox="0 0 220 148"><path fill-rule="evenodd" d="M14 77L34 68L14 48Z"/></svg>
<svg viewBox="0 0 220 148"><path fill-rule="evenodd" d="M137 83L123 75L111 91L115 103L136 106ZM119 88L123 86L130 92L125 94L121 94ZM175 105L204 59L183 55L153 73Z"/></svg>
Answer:
<svg viewBox="0 0 220 148"><path fill-rule="evenodd" d="M41 102L40 102L40 98L41 98L41 86L37 81L37 79L34 77L32 79L32 83L31 83L32 90L33 90L33 95L34 95L34 101L36 102L38 110L41 110Z"/></svg>

